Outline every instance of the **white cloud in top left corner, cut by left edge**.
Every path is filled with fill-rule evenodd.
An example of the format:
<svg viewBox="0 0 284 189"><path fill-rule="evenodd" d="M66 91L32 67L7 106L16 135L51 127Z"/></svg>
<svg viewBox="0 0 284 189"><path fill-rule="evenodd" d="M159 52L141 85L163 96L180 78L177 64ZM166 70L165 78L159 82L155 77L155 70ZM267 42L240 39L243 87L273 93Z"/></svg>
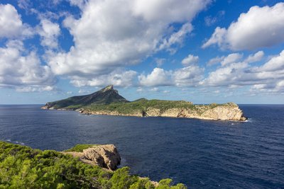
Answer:
<svg viewBox="0 0 284 189"><path fill-rule="evenodd" d="M16 8L11 4L0 4L0 38L26 38L33 30L21 21Z"/></svg>

